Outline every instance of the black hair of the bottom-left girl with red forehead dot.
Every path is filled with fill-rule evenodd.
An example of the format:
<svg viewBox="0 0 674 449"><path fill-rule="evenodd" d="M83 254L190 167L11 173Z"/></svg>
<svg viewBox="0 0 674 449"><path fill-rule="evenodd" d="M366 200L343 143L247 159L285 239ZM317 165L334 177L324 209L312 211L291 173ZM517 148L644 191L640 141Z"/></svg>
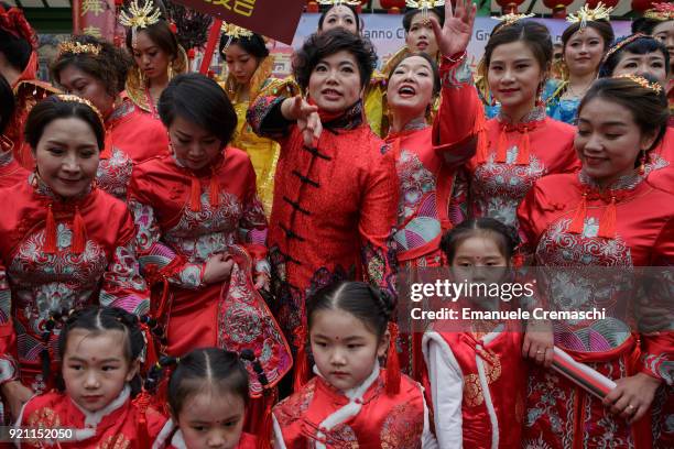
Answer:
<svg viewBox="0 0 674 449"><path fill-rule="evenodd" d="M99 336L108 330L119 330L124 335L124 357L131 365L137 360L141 360L145 350L145 338L140 326L138 316L130 314L119 307L89 306L74 311L66 320L61 333L58 335L58 355L63 361L68 342L68 335L72 330L84 329L95 336ZM140 374L130 382L131 395L135 396L141 391ZM63 379L57 379L57 387L65 390Z"/></svg>

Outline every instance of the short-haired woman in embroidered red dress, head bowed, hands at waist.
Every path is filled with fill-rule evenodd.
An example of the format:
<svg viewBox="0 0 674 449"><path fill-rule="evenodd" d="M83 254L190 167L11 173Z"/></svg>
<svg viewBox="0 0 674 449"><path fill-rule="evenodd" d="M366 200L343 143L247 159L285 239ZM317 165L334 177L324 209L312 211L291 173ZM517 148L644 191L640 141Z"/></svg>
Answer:
<svg viewBox="0 0 674 449"><path fill-rule="evenodd" d="M129 205L142 270L151 284L163 284L153 314L166 322L164 350L181 357L204 347L251 349L273 387L292 359L258 293L269 288L267 219L250 158L228 146L233 107L216 81L180 75L159 112L173 153L135 167ZM251 396L260 397L254 379ZM251 412L251 426L260 421L257 413L263 409Z"/></svg>

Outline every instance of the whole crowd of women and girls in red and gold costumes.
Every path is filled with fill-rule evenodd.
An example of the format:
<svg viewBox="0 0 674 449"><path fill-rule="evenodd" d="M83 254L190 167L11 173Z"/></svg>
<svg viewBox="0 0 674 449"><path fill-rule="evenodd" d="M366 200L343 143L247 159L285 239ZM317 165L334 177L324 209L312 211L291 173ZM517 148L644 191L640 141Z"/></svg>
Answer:
<svg viewBox="0 0 674 449"><path fill-rule="evenodd" d="M138 1L53 84L0 3L0 419L73 429L21 447L674 447L666 302L648 329L396 314L426 267L674 264L671 4L620 37L569 14L561 65L504 15L474 73L471 1L412 2L380 70L359 2L325 1L292 76L226 24L214 79Z"/></svg>

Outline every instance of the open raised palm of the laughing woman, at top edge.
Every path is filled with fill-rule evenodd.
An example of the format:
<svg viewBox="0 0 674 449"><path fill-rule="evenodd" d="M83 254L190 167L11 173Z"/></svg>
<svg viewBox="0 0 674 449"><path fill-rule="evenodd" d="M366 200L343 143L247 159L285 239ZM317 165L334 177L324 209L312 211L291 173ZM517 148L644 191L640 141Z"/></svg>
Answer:
<svg viewBox="0 0 674 449"><path fill-rule="evenodd" d="M456 0L454 11L452 1L446 0L444 26L441 28L437 19L431 15L435 41L443 56L450 57L466 51L472 36L476 13L477 7L470 0Z"/></svg>

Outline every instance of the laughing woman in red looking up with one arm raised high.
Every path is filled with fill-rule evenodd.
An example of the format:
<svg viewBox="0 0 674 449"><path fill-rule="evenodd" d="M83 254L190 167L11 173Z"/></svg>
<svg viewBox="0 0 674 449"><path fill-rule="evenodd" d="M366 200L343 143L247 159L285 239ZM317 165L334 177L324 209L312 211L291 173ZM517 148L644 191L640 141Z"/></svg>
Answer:
<svg viewBox="0 0 674 449"><path fill-rule="evenodd" d="M464 64L474 18L460 2L456 15L450 2L445 9L442 29L435 14L431 15L438 25L435 40L445 55L441 73L431 56L411 53L391 69L387 83L391 128L385 141L395 157L400 182L393 241L399 263L409 269L441 265L441 236L452 226L447 212L455 171L475 155L479 131L475 123L479 111L463 109L458 114L447 106L452 101L468 108L477 106L470 102L475 89ZM439 91L441 105L445 106L441 106L431 127L426 116ZM478 120L477 125L483 125L483 121ZM401 365L414 379L421 379L421 335L415 335L418 341L413 351L406 340L401 339Z"/></svg>

